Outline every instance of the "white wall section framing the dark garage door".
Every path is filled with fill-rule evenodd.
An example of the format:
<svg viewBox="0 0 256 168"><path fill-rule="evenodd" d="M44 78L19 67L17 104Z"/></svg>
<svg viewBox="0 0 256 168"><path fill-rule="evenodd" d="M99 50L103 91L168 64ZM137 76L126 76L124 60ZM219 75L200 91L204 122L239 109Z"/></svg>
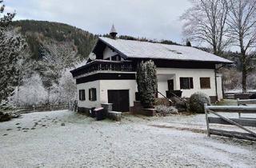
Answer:
<svg viewBox="0 0 256 168"><path fill-rule="evenodd" d="M135 92L137 92L137 84L135 80L101 80L101 103L108 102L107 90L129 90L130 106L134 106Z"/></svg>

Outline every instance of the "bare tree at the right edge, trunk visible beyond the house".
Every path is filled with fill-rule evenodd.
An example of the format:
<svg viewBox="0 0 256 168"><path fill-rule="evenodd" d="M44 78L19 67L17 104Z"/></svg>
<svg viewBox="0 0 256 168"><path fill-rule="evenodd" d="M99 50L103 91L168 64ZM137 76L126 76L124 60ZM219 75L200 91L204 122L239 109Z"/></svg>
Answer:
<svg viewBox="0 0 256 168"><path fill-rule="evenodd" d="M234 39L234 45L241 52L242 62L242 92L246 92L246 78L252 69L250 52L256 46L256 0L230 0L230 13L227 18L229 37ZM250 54L250 55L249 55Z"/></svg>

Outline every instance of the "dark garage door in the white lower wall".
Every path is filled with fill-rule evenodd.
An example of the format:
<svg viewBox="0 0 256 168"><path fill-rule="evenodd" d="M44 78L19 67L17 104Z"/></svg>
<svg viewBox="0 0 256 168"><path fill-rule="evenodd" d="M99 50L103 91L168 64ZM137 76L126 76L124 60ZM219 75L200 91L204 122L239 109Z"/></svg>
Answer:
<svg viewBox="0 0 256 168"><path fill-rule="evenodd" d="M130 111L129 90L107 90L108 102L113 103L113 110Z"/></svg>

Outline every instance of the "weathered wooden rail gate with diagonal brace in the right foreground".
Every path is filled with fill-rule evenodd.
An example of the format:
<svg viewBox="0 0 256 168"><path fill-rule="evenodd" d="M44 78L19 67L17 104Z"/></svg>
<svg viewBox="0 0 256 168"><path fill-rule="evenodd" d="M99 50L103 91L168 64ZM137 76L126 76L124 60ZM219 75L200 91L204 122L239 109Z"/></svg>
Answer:
<svg viewBox="0 0 256 168"><path fill-rule="evenodd" d="M226 136L231 138L240 138L251 141L256 141L256 133L246 128L246 126L256 127L256 118L226 118L221 113L244 113L256 114L256 106L207 106L205 104L207 136L210 134ZM214 114L216 117L209 117L209 114ZM245 130L246 133L228 130L211 129L210 124L222 124L238 126L238 128Z"/></svg>

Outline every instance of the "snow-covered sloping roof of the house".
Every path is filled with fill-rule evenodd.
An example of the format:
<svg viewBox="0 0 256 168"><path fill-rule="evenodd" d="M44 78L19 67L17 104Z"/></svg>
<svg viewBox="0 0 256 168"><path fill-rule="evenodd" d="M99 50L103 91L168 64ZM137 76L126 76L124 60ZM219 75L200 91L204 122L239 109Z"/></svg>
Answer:
<svg viewBox="0 0 256 168"><path fill-rule="evenodd" d="M99 40L128 58L170 59L181 61L233 63L217 55L190 46L166 45L154 42L112 39L100 37Z"/></svg>

